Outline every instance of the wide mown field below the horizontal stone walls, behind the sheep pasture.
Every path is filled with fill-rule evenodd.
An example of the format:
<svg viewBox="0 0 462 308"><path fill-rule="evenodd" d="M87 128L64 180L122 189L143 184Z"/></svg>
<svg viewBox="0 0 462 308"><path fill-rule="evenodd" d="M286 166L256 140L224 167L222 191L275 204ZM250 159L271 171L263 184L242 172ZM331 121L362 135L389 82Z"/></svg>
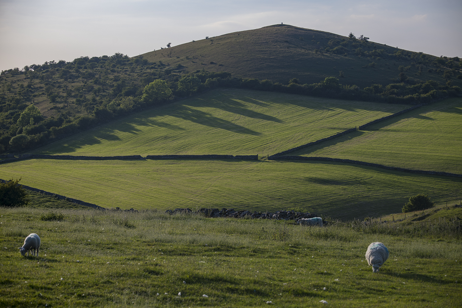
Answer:
<svg viewBox="0 0 462 308"><path fill-rule="evenodd" d="M460 178L325 162L30 159L0 166L0 178L19 177L24 185L107 208L299 207L341 219L400 212L418 193L454 200L462 184Z"/></svg>

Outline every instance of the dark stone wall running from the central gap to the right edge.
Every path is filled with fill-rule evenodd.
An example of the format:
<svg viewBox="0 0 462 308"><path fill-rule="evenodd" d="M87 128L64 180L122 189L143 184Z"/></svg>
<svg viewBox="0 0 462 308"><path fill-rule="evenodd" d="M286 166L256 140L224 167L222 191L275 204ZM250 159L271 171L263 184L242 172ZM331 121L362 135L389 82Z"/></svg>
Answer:
<svg viewBox="0 0 462 308"><path fill-rule="evenodd" d="M342 158L307 157L307 156L276 156L276 157L271 157L271 159L274 159L274 160L317 160L317 161L329 161L329 162L338 162L338 163L354 163L357 165L376 167L376 168L395 170L395 171L402 171L402 172L408 172L408 173L462 177L462 174L457 174L457 173L406 169L406 168L400 168L400 167L385 166L379 163L367 163L367 162L362 162L359 160L342 159Z"/></svg>

